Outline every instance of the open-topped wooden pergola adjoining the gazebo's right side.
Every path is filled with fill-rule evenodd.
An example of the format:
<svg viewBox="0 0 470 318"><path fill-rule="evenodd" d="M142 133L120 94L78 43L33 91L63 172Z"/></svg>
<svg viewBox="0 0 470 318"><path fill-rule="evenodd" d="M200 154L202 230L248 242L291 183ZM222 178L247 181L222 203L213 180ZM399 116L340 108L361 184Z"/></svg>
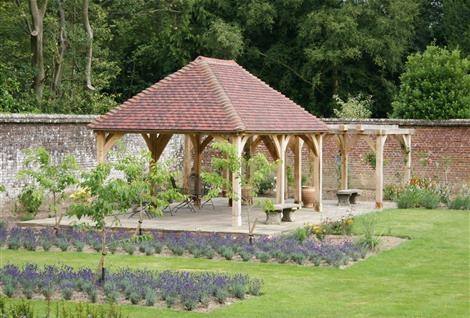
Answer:
<svg viewBox="0 0 470 318"><path fill-rule="evenodd" d="M348 189L348 163L349 153L363 137L370 149L375 153L375 207L383 207L384 187L384 145L388 136L395 138L400 144L405 158L404 183L411 178L411 135L413 129L399 128L397 125L328 125L329 134L337 138L341 154L341 182L343 190Z"/></svg>

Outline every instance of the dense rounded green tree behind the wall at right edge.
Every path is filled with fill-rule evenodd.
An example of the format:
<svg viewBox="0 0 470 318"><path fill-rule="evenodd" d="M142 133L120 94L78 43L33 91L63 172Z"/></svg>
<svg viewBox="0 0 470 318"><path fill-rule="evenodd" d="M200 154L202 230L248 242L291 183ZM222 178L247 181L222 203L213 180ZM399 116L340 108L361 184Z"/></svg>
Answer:
<svg viewBox="0 0 470 318"><path fill-rule="evenodd" d="M434 45L412 54L400 76L393 117L470 118L470 60Z"/></svg>

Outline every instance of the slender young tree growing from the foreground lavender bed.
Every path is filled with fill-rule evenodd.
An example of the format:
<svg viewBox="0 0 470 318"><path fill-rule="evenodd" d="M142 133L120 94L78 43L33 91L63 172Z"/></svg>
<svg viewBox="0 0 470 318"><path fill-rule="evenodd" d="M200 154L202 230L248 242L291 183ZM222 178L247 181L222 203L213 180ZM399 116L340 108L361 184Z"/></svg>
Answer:
<svg viewBox="0 0 470 318"><path fill-rule="evenodd" d="M91 171L83 173L80 190L71 197L68 214L78 219L88 217L101 233L101 259L99 270L105 280L106 217L127 211L130 207L129 184L126 180L110 175L112 165L101 163Z"/></svg>

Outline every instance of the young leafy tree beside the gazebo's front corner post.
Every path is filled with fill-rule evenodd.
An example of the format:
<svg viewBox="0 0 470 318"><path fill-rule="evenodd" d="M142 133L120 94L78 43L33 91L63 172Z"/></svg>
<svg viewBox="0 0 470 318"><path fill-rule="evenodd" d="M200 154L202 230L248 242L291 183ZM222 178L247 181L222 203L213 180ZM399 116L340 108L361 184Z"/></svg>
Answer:
<svg viewBox="0 0 470 318"><path fill-rule="evenodd" d="M233 196L232 182L227 180L224 171L229 171L232 174L237 174L241 180L242 188L248 192L251 198L256 197L258 194L260 185L266 180L266 178L274 172L277 162L269 162L266 156L262 153L258 153L254 156L237 156L236 149L233 145L228 142L216 142L212 145L212 148L220 153L220 156L212 158L211 171L204 171L202 173L202 179L204 182L210 184L211 188L207 196L214 198L225 190L227 195L232 200L242 200ZM256 220L251 222L251 211L254 200L246 201L248 210L248 232L250 235L250 243L253 240L253 233L256 226Z"/></svg>

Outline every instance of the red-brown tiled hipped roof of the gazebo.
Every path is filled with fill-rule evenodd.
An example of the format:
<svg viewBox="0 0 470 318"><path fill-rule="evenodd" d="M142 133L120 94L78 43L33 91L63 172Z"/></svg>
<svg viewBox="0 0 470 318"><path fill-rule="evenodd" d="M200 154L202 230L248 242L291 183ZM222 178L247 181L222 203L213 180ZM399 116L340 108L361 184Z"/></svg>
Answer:
<svg viewBox="0 0 470 318"><path fill-rule="evenodd" d="M311 133L325 123L233 60L198 57L89 125L123 132Z"/></svg>

